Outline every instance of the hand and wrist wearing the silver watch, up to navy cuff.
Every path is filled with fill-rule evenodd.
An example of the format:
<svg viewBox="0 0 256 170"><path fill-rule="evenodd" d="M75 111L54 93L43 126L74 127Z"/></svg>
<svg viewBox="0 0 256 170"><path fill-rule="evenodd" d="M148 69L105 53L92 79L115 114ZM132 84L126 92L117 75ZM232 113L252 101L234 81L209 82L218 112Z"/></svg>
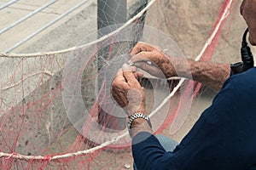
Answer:
<svg viewBox="0 0 256 170"><path fill-rule="evenodd" d="M143 75L133 70L133 67L125 64L122 69L116 74L112 82L111 93L113 99L124 108L128 118L135 113L143 113L147 116L145 111L145 93L144 88L137 81L137 77ZM131 122L131 136L135 136L139 132L152 133L148 122L143 118L136 118Z"/></svg>

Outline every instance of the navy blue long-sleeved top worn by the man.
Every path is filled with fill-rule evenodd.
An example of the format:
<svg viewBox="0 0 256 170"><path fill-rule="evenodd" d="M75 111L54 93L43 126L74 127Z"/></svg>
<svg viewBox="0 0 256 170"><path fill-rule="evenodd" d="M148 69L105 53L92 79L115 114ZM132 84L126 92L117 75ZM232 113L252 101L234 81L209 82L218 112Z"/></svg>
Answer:
<svg viewBox="0 0 256 170"><path fill-rule="evenodd" d="M256 68L224 82L212 105L172 152L166 152L158 139L146 132L138 133L132 143L138 170L254 169Z"/></svg>

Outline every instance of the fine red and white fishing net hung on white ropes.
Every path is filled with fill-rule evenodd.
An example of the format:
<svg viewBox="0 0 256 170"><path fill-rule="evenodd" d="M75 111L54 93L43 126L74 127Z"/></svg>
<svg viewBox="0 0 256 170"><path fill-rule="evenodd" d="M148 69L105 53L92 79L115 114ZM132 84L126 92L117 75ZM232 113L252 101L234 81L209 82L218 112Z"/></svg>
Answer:
<svg viewBox="0 0 256 170"><path fill-rule="evenodd" d="M118 2L115 7L103 4L113 13L106 18L119 17L119 5L128 8ZM239 61L246 28L240 3L137 1L121 19L125 23L109 20L105 26L100 20L100 30L81 35L83 41L74 48L1 54L1 169L131 169L127 117L110 94L116 71L139 41L174 57ZM215 94L184 78L165 80L145 73L139 81L154 133L177 140Z"/></svg>

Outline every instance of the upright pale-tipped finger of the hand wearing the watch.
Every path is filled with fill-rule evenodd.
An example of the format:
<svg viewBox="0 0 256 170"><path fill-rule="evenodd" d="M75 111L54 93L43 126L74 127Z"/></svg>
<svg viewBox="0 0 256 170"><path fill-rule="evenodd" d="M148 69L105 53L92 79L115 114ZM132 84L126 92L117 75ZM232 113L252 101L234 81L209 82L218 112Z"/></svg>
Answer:
<svg viewBox="0 0 256 170"><path fill-rule="evenodd" d="M124 64L122 66L122 69L123 69L123 75L125 77L125 80L126 80L126 82L128 82L128 84L131 87L136 88L136 87L141 86L140 83L137 82L137 79L136 79L136 77L135 77L134 73L132 72L131 67L129 65Z"/></svg>

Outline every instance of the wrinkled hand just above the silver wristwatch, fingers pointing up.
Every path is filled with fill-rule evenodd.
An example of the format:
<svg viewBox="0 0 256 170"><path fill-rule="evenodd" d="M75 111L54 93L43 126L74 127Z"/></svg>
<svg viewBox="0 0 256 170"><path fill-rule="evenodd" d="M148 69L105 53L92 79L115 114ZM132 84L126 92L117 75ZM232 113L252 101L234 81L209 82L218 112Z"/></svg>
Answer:
<svg viewBox="0 0 256 170"><path fill-rule="evenodd" d="M125 64L122 69L119 69L112 82L113 99L124 108L128 116L135 112L145 113L144 88L137 81L137 77L142 76L142 73L132 71L132 67Z"/></svg>

